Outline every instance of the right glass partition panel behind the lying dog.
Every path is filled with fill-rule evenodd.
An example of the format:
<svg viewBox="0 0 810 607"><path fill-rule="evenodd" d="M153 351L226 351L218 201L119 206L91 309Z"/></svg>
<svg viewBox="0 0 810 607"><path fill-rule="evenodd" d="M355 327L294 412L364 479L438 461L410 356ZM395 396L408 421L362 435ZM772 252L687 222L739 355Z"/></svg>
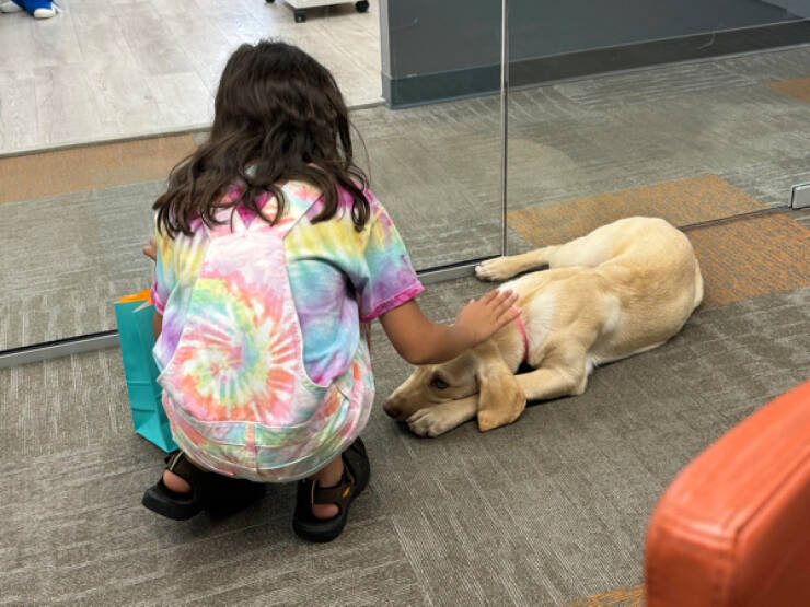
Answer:
<svg viewBox="0 0 810 607"><path fill-rule="evenodd" d="M509 2L509 220L531 247L810 180L810 4Z"/></svg>

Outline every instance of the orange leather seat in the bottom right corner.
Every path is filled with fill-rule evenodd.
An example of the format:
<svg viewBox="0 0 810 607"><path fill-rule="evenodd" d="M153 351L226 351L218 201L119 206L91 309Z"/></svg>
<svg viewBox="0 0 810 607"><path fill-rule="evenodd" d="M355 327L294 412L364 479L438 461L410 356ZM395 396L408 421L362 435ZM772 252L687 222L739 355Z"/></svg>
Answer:
<svg viewBox="0 0 810 607"><path fill-rule="evenodd" d="M810 381L715 442L650 518L647 605L810 606Z"/></svg>

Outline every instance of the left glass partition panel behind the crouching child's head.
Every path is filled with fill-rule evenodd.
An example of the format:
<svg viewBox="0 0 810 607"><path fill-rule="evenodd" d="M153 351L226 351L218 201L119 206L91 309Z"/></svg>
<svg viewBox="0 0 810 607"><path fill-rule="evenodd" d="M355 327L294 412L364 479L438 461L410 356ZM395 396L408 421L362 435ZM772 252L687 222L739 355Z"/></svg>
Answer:
<svg viewBox="0 0 810 607"><path fill-rule="evenodd" d="M417 269L497 255L500 4L472 11L483 28L447 22L440 3L408 10L383 0L359 13L348 3L308 9L294 23L284 3L236 2L190 17L166 5L148 15L149 27L99 14L120 36L86 32L88 48L65 58L76 66L54 58L31 73L0 70L0 351L115 330L113 303L151 284L141 254L151 205L172 166L207 138L217 74L240 44L268 35L334 73L356 127L355 159ZM48 25L65 34L83 19L79 5L71 14ZM3 17L0 49L40 42L24 16ZM442 63L445 55L428 50L453 36L477 40L481 56ZM171 73L150 73L154 58L126 44L141 38L172 48ZM126 82L103 61L124 55L134 63ZM442 73L455 74L449 89ZM468 78L474 86L463 84ZM111 137L118 141L99 143Z"/></svg>

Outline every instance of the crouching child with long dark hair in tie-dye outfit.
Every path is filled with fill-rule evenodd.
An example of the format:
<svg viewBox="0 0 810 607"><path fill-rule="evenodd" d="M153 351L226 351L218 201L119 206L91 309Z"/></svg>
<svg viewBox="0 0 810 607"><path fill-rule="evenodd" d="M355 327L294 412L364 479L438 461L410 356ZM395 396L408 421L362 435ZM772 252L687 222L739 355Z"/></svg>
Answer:
<svg viewBox="0 0 810 607"><path fill-rule="evenodd" d="M358 437L374 396L368 324L425 364L517 315L517 295L491 291L452 326L425 318L405 246L354 164L332 74L282 43L231 56L210 138L154 209L154 358L180 451L143 504L172 518L246 481L299 480L296 533L337 537L370 472Z"/></svg>

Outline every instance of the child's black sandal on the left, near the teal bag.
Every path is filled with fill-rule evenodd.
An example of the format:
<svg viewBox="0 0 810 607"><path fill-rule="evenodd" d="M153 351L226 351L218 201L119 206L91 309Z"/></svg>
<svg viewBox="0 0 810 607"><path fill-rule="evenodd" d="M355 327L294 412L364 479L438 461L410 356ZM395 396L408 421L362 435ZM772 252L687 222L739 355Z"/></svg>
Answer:
<svg viewBox="0 0 810 607"><path fill-rule="evenodd" d="M180 450L170 453L165 462L166 470L185 480L192 486L192 490L187 493L172 491L163 482L161 474L160 480L146 490L141 503L167 518L186 521L204 507L228 514L243 507L263 492L263 488L257 483L198 468Z"/></svg>

